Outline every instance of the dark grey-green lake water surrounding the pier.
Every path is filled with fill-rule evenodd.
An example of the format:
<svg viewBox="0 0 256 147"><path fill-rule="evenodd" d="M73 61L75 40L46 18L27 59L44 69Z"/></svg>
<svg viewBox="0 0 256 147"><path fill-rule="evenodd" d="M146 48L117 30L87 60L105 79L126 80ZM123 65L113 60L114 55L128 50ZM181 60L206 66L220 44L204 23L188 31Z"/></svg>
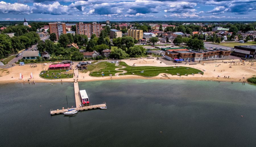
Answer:
<svg viewBox="0 0 256 147"><path fill-rule="evenodd" d="M79 82L108 109L75 106L73 83L0 85L0 146L256 146L256 85L209 81ZM243 115L243 117L241 117ZM160 133L162 131L162 133Z"/></svg>

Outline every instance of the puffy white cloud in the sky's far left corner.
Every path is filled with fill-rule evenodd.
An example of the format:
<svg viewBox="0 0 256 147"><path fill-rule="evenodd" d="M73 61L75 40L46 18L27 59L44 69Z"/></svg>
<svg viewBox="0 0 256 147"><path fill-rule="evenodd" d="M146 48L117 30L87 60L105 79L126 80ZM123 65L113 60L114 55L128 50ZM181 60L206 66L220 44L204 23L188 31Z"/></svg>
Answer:
<svg viewBox="0 0 256 147"><path fill-rule="evenodd" d="M0 13L14 13L14 14L22 14L29 13L30 9L28 5L20 4L20 3L6 3L4 1L0 2Z"/></svg>

